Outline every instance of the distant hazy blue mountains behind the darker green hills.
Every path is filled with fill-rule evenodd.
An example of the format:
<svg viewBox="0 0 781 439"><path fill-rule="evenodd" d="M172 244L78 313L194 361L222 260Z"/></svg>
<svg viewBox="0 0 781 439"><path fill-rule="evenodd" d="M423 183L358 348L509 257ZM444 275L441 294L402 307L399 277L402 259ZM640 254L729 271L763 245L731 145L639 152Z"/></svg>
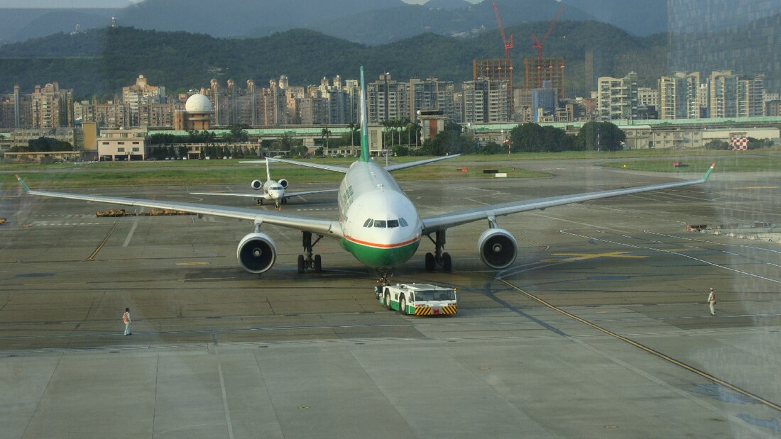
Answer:
<svg viewBox="0 0 781 439"><path fill-rule="evenodd" d="M666 0L567 0L562 20L595 19L629 34L666 30ZM498 0L505 27L545 22L558 12L556 0ZM493 2L429 0L144 0L122 9L2 9L0 44L58 32L109 26L209 34L212 37L265 37L292 28L317 30L362 44L385 44L424 32L469 36L496 29ZM516 35L515 41L530 40Z"/></svg>

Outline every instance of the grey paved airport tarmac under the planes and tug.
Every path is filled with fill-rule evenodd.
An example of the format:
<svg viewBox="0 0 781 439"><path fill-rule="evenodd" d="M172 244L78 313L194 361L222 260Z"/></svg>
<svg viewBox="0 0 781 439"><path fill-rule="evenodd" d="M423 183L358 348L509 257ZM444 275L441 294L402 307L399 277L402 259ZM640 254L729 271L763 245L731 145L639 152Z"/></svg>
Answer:
<svg viewBox="0 0 781 439"><path fill-rule="evenodd" d="M700 176L497 166L550 176L401 186L426 216ZM391 279L458 288L458 315L438 318L385 310L376 274L330 239L323 272L298 274L300 233L263 225L278 255L258 276L236 260L247 221L96 218L110 206L5 187L0 437L778 437L781 247L686 225L778 224L779 181L717 168L501 217L519 242L505 271L477 255L487 224L452 228L451 273L423 269L424 240ZM77 192L252 205L188 194L228 189L245 186ZM336 218L333 199L284 209Z"/></svg>

